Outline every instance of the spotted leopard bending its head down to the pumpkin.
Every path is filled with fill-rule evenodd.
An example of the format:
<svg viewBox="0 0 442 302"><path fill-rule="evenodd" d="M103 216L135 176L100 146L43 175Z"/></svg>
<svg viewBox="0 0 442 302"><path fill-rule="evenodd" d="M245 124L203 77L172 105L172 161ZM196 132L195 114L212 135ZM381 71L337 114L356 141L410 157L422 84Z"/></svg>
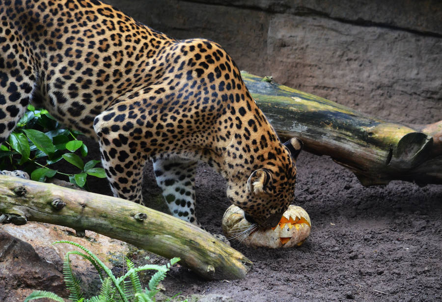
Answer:
<svg viewBox="0 0 442 302"><path fill-rule="evenodd" d="M295 198L302 142L282 143L227 52L179 40L98 0L0 0L0 143L28 104L98 141L114 196L143 204L152 161L170 213L200 226L204 162L259 227Z"/></svg>

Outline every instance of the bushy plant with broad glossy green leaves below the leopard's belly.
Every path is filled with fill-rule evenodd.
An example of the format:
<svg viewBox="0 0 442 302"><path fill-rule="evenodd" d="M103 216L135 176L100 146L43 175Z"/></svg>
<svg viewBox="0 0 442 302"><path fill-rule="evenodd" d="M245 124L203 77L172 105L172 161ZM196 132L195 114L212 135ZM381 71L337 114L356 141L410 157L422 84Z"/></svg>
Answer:
<svg viewBox="0 0 442 302"><path fill-rule="evenodd" d="M105 178L106 173L103 168L96 167L100 161L83 162L87 146L77 138L79 135L81 132L61 128L47 110L28 105L28 111L0 146L0 169L25 170L36 181L45 181L58 173L83 188L88 175ZM51 168L63 159L80 171L64 173Z"/></svg>

